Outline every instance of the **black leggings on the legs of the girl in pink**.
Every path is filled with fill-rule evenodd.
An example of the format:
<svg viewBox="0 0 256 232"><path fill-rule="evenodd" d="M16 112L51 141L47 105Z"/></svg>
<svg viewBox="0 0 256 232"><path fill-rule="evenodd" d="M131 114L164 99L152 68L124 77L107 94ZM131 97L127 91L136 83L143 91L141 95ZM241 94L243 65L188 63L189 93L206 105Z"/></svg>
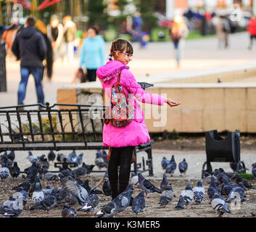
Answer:
<svg viewBox="0 0 256 232"><path fill-rule="evenodd" d="M134 146L111 147L108 164L111 196L114 199L118 194L125 191L128 186L131 172L131 158ZM118 166L120 170L118 173ZM119 174L119 175L118 175Z"/></svg>

